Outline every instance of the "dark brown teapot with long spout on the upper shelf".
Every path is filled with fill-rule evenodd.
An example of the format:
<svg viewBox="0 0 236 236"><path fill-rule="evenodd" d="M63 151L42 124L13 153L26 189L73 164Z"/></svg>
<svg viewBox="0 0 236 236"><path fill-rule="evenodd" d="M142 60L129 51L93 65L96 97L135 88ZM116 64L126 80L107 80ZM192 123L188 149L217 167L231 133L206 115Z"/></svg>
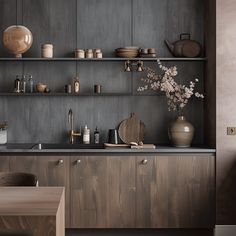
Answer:
<svg viewBox="0 0 236 236"><path fill-rule="evenodd" d="M198 57L201 55L201 44L195 40L191 40L190 34L180 34L179 40L174 43L165 40L165 43L175 57Z"/></svg>

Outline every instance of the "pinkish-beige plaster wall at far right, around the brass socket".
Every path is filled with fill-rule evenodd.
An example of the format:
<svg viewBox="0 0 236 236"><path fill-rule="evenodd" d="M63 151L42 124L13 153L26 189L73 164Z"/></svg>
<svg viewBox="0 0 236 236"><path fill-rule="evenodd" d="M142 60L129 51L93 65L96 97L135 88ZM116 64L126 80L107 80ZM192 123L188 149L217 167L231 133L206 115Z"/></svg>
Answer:
<svg viewBox="0 0 236 236"><path fill-rule="evenodd" d="M216 0L217 223L236 224L236 0Z"/></svg>

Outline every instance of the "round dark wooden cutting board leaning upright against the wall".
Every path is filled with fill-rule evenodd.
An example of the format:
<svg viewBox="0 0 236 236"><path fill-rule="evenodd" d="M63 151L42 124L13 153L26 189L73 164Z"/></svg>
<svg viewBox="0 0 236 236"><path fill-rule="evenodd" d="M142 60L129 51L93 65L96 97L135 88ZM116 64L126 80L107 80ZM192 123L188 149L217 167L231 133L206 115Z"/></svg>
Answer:
<svg viewBox="0 0 236 236"><path fill-rule="evenodd" d="M126 144L130 144L130 142L143 142L145 125L138 119L135 113L131 113L128 119L120 123L118 133L120 139Z"/></svg>

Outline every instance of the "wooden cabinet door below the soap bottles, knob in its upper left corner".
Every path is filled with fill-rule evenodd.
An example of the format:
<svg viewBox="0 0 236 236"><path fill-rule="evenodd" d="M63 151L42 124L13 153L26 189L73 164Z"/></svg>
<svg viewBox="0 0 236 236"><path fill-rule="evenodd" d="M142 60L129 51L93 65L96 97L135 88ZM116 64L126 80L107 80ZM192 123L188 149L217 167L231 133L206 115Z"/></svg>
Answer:
<svg viewBox="0 0 236 236"><path fill-rule="evenodd" d="M135 158L71 160L71 227L135 227Z"/></svg>

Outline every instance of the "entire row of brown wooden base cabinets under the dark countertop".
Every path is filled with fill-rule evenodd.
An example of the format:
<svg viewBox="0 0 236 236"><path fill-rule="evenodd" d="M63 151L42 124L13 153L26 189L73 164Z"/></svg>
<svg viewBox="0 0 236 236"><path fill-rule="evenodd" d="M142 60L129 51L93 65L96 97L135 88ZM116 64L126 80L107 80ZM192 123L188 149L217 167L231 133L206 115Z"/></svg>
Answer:
<svg viewBox="0 0 236 236"><path fill-rule="evenodd" d="M0 156L1 171L65 186L67 228L213 228L215 156Z"/></svg>

